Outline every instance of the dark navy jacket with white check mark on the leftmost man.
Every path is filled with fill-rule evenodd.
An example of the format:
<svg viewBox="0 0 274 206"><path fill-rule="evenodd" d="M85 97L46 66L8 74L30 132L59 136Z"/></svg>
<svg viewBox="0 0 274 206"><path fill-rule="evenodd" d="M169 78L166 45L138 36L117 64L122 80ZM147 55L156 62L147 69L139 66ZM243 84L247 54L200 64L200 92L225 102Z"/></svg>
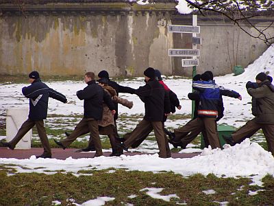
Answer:
<svg viewBox="0 0 274 206"><path fill-rule="evenodd" d="M66 103L66 97L41 82L40 78L34 80L29 87L23 87L23 95L29 98L29 119L42 120L47 119L47 106L49 98Z"/></svg>

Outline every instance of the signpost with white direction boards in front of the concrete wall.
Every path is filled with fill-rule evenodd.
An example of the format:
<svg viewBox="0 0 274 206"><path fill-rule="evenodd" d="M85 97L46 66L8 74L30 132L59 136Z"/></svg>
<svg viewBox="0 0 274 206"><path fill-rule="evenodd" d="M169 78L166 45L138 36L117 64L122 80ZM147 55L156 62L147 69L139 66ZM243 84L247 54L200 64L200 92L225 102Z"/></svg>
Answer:
<svg viewBox="0 0 274 206"><path fill-rule="evenodd" d="M169 32L192 33L192 49L169 49L169 56L192 56L192 59L182 59L182 67L192 66L192 77L197 74L196 66L199 65L197 56L200 55L197 45L201 45L201 38L196 34L200 33L197 26L197 15L192 15L192 25L169 25ZM192 117L194 115L195 102L192 101Z"/></svg>

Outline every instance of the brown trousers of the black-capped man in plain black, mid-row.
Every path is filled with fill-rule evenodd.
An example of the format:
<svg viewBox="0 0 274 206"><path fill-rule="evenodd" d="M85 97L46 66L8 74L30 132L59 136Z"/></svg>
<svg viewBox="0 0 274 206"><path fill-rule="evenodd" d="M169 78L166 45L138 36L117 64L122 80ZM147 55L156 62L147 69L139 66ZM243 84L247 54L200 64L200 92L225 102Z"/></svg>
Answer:
<svg viewBox="0 0 274 206"><path fill-rule="evenodd" d="M144 134L147 135L151 133L152 130L154 130L155 138L160 150L159 157L170 157L170 154L168 154L169 152L167 151L167 148L169 149L169 144L166 139L166 135L164 135L162 122L149 122L145 119L142 119L142 121L139 122L136 128L134 128L132 133L130 133L130 135L124 141L125 146L127 148L131 147L134 143L143 139Z"/></svg>

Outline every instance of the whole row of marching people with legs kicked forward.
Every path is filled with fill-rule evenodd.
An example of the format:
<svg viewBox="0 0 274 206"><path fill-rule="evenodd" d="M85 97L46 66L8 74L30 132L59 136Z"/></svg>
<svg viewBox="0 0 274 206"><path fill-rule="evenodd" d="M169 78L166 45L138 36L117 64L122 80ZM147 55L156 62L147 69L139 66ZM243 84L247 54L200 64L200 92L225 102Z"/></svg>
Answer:
<svg viewBox="0 0 274 206"><path fill-rule="evenodd" d="M95 73L87 72L84 81L88 85L76 93L79 100L84 100L84 117L71 133L65 133L65 139L54 139L55 143L65 149L77 137L90 133L88 146L76 152L95 151L94 157L100 157L103 152L99 135L108 135L112 146L110 156L119 157L123 155L123 150L140 146L153 130L161 158L171 157L169 143L175 148L186 148L199 133L203 133L206 146L211 146L212 149L221 148L216 122L223 117L222 96L242 100L239 93L217 85L211 71L196 75L192 81L194 92L188 93L188 98L195 101L194 117L186 125L171 132L164 128L164 122L171 113L175 113L176 108L182 108L177 95L164 84L158 69L149 67L145 69L144 76L145 85L132 89L110 80L108 71L100 71L98 80L95 80ZM54 98L64 103L67 103L67 100L64 95L41 82L38 71L29 73L29 82L31 85L22 89L23 95L29 98L29 117L14 139L9 142L1 141L1 144L13 150L18 141L36 125L44 148L42 155L36 158L51 158L51 148L43 121L47 118L48 100ZM255 117L232 135L224 136L227 144L234 146L262 128L268 150L274 155L274 86L271 82L271 76L266 73L258 73L256 82L247 82L247 92L252 97L252 113ZM131 133L123 137L119 137L116 127L118 104L132 108L133 102L120 98L119 93L136 94L145 104L145 116L142 121Z"/></svg>

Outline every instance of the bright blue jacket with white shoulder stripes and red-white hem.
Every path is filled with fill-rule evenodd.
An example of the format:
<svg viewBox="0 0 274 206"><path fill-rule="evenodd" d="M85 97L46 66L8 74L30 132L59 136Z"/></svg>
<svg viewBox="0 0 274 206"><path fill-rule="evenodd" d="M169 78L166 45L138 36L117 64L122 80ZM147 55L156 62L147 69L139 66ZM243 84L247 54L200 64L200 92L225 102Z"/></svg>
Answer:
<svg viewBox="0 0 274 206"><path fill-rule="evenodd" d="M192 88L199 91L198 117L216 118L220 98L219 87L210 80L192 82Z"/></svg>

